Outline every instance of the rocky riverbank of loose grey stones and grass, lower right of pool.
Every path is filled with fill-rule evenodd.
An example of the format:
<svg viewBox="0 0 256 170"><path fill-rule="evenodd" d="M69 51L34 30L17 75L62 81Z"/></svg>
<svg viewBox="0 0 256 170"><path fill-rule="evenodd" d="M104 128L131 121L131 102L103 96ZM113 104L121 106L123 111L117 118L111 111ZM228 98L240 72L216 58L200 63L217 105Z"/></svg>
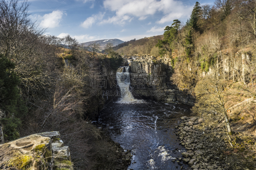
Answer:
<svg viewBox="0 0 256 170"><path fill-rule="evenodd" d="M222 120L206 125L202 118L184 116L175 128L180 144L187 150L182 153L182 161L190 166L189 169L256 169L256 140L253 135L234 134L231 136L234 147L231 147Z"/></svg>

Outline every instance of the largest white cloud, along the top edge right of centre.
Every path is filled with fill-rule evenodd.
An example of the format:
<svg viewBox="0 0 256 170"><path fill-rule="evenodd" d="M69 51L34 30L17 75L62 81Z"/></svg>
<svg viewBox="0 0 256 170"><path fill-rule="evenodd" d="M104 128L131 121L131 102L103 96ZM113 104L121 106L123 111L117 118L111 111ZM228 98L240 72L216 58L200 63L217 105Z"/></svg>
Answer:
<svg viewBox="0 0 256 170"><path fill-rule="evenodd" d="M166 23L173 21L173 19L189 17L193 9L193 6L187 6L181 1L175 0L105 0L103 5L106 9L116 12L116 16L112 18L135 16L139 17L139 20L143 20L149 15L154 15L156 12L162 12L164 17L157 21L158 23ZM123 19L121 23L124 24L125 21Z"/></svg>

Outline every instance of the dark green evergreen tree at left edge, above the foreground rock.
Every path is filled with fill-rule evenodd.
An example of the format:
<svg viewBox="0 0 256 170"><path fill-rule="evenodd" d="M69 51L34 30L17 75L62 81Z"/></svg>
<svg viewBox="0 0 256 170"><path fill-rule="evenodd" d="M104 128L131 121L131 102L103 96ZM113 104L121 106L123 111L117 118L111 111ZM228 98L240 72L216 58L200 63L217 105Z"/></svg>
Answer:
<svg viewBox="0 0 256 170"><path fill-rule="evenodd" d="M20 79L13 71L14 68L14 63L0 55L0 109L5 113L5 118L1 119L5 140L20 137L17 127L21 125L20 118L27 113L17 87Z"/></svg>

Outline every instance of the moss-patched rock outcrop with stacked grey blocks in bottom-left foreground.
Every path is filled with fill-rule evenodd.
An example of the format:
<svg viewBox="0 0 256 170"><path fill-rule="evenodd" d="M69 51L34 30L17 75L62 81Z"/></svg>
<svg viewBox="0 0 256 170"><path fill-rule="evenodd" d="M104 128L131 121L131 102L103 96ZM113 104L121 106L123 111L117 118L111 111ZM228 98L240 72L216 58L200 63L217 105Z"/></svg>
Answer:
<svg viewBox="0 0 256 170"><path fill-rule="evenodd" d="M57 131L22 137L0 145L0 168L73 170L70 151L64 146Z"/></svg>

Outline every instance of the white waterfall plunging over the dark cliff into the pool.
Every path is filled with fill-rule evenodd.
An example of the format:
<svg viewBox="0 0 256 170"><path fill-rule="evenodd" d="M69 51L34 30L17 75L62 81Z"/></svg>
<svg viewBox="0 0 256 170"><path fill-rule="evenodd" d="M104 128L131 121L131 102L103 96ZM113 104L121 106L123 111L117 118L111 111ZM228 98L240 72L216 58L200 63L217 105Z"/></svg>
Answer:
<svg viewBox="0 0 256 170"><path fill-rule="evenodd" d="M121 90L121 97L122 101L137 101L131 94L129 90L130 82L130 73L129 73L129 66L120 67L116 70L116 79L117 85L120 87Z"/></svg>

